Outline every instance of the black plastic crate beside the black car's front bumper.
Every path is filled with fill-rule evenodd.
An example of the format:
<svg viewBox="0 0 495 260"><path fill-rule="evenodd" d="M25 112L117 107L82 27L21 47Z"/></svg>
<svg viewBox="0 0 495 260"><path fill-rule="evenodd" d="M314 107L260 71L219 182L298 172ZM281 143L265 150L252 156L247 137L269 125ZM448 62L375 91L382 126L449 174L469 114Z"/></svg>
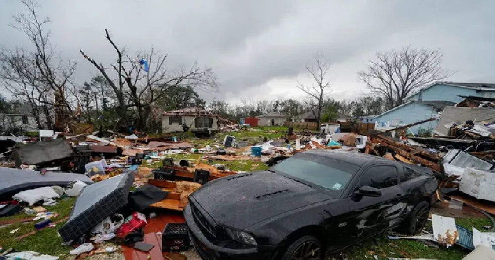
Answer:
<svg viewBox="0 0 495 260"><path fill-rule="evenodd" d="M186 251L189 249L188 227L186 223L168 223L161 235L162 252Z"/></svg>

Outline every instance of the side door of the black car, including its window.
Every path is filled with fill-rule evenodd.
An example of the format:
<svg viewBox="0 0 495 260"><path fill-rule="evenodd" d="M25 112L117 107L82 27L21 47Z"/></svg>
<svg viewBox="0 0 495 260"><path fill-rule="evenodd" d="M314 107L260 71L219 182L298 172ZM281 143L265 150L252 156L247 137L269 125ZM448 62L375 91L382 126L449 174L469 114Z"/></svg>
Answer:
<svg viewBox="0 0 495 260"><path fill-rule="evenodd" d="M355 195L362 186L371 186L380 189L380 197ZM346 217L348 232L353 242L394 226L399 220L400 213L406 205L402 205L400 198L403 190L398 186L397 169L392 165L372 166L366 169L356 183L349 202L349 214Z"/></svg>

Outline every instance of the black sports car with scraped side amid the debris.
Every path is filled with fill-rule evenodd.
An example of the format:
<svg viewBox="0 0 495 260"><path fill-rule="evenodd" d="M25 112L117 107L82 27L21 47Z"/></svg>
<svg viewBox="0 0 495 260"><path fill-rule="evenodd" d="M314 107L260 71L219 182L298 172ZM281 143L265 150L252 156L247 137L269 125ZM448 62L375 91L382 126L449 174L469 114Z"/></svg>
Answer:
<svg viewBox="0 0 495 260"><path fill-rule="evenodd" d="M427 168L310 150L203 185L184 217L204 260L318 260L390 229L419 232L436 188Z"/></svg>

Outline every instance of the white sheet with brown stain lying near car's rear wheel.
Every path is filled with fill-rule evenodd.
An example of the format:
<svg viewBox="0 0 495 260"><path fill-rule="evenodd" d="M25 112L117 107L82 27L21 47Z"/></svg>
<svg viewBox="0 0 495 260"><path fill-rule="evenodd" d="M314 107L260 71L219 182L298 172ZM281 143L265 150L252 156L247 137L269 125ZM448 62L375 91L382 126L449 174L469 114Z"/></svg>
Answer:
<svg viewBox="0 0 495 260"><path fill-rule="evenodd" d="M435 241L447 248L459 240L459 233L453 217L442 217L432 214L433 235Z"/></svg>

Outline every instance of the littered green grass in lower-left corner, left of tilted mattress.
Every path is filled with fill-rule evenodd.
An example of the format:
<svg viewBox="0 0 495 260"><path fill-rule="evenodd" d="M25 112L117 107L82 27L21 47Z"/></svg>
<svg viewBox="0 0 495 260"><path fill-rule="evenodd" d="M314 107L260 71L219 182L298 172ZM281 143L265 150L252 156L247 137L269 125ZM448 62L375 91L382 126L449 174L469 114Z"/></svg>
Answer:
<svg viewBox="0 0 495 260"><path fill-rule="evenodd" d="M57 201L58 204L55 206L44 206L47 211L53 211L59 214L58 217L52 219L53 222L56 222L63 217L69 216L72 205L74 204L76 199L63 198L58 199ZM1 220L21 219L26 217L34 218L34 216L27 216L24 213L20 213L12 217L3 217L1 218ZM51 256L62 256L69 253L71 248L68 246L62 246L61 243L63 241L57 235L58 228L60 228L60 226L62 226L65 222L57 223L55 227L45 228L43 230L40 230L36 234L24 238L21 241L16 241L16 237L35 230L35 223L36 221L17 223L0 228L0 246L2 246L4 250L8 248L13 248L17 252L29 250ZM19 228L19 230L17 230L13 234L10 234L10 231L16 228Z"/></svg>

